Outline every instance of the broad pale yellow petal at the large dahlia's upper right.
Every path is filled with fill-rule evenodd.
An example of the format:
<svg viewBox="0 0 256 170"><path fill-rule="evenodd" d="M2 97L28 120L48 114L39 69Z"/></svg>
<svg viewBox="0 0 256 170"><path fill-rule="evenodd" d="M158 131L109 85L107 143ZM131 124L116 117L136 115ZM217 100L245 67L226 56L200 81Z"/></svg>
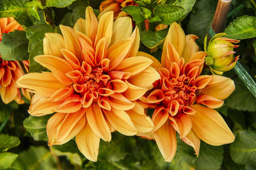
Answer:
<svg viewBox="0 0 256 170"><path fill-rule="evenodd" d="M113 24L113 34L110 45L128 38L132 34L132 20L131 17L116 18Z"/></svg>

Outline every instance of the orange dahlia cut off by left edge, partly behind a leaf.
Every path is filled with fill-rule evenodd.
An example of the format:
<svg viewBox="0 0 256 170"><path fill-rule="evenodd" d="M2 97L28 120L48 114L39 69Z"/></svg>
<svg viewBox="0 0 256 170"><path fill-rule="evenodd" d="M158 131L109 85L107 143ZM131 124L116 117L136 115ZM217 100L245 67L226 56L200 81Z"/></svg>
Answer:
<svg viewBox="0 0 256 170"><path fill-rule="evenodd" d="M14 18L0 18L0 42L3 33L12 32L14 30L23 30ZM28 70L29 62L23 61L24 66ZM19 64L17 61L3 60L0 55L0 95L3 103L8 104L15 100L17 103L22 104L24 101L21 99L20 90L16 85L18 78L22 76ZM22 94L30 99L29 92L21 89Z"/></svg>

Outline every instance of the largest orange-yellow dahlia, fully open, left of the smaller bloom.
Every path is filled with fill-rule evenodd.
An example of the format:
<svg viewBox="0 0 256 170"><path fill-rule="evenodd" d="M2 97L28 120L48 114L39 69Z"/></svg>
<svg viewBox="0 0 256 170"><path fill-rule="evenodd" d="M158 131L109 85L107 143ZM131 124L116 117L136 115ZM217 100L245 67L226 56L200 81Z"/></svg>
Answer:
<svg viewBox="0 0 256 170"><path fill-rule="evenodd" d="M84 156L96 161L100 138L111 132L127 136L150 132L154 125L135 103L160 78L152 60L136 56L138 27L129 17L113 22L113 11L99 22L91 7L74 29L60 25L63 36L47 33L44 55L35 60L51 72L29 73L18 80L31 89L29 113L55 113L47 122L49 145L61 145L76 136Z"/></svg>

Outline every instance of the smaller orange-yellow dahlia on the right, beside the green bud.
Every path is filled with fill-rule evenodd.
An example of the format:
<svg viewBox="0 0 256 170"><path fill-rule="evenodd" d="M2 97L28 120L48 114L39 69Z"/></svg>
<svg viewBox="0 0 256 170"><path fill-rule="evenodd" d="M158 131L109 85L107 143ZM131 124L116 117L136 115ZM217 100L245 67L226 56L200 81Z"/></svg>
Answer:
<svg viewBox="0 0 256 170"><path fill-rule="evenodd" d="M228 125L214 110L234 91L234 81L224 76L200 75L206 53L198 52L195 39L195 35L185 36L177 23L170 25L161 63L154 60L152 64L161 79L140 99L145 107L155 108L154 130L140 135L155 139L167 162L172 161L176 152L176 132L185 143L193 146L196 155L200 139L209 145L234 141Z"/></svg>

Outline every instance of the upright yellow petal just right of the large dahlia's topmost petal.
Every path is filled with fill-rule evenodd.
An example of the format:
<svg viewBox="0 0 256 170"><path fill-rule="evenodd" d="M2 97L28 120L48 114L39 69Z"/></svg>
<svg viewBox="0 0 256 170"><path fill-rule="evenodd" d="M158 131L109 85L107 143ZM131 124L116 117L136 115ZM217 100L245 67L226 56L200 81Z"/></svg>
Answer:
<svg viewBox="0 0 256 170"><path fill-rule="evenodd" d="M113 11L104 13L99 19L99 25L97 29L97 36L95 39L95 45L101 38L106 38L106 48L108 48L113 31Z"/></svg>

